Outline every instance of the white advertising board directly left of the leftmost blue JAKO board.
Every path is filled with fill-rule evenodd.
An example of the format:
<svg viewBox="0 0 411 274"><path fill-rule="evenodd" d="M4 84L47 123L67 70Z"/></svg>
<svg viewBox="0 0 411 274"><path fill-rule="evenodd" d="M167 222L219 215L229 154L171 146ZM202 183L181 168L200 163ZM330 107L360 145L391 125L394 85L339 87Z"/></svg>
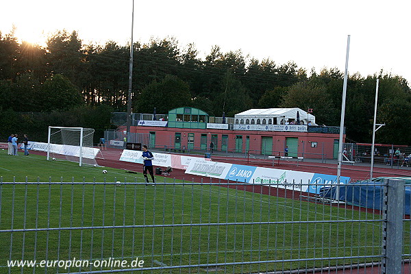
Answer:
<svg viewBox="0 0 411 274"><path fill-rule="evenodd" d="M190 161L186 173L204 177L225 179L232 164L210 162L206 160Z"/></svg>

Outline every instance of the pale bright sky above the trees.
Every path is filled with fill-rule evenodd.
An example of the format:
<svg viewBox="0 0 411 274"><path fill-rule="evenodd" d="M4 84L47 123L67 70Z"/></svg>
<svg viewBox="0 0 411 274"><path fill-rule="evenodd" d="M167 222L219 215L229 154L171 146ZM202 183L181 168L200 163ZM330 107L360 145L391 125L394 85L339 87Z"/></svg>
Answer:
<svg viewBox="0 0 411 274"><path fill-rule="evenodd" d="M78 32L85 44L127 45L133 0L0 1L0 32L16 27L19 40L45 44L49 34ZM134 0L134 42L174 37L179 49L194 43L199 58L212 46L241 50L276 64L295 62L366 77L383 70L411 83L411 1L403 0Z"/></svg>

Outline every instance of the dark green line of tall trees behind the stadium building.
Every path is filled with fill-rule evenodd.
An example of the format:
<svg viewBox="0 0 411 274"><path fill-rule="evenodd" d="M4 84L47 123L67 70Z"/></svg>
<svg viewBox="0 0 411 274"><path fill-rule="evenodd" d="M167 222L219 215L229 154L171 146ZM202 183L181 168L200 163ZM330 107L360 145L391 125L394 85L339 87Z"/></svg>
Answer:
<svg viewBox="0 0 411 274"><path fill-rule="evenodd" d="M214 116L223 112L234 116L250 108L297 107L312 108L321 125L340 125L343 73L338 69L308 73L294 62L257 60L240 50L223 53L218 46L200 58L194 44L179 47L175 38L136 42L133 49L133 112L152 113L156 108L158 114L166 114L173 108L192 106ZM386 123L377 133L377 142L408 145L411 138L405 125L411 121L410 86L400 75L383 71L366 77L349 75L347 138L371 142L377 78L377 123ZM126 112L128 79L129 45L112 41L85 45L77 32L63 30L49 36L42 47L18 42L13 32L0 33L2 116L5 112L66 112L66 119L71 120L60 116L53 125L84 126L84 119L73 120L67 112L96 114L95 119L99 119L98 108ZM99 126L109 125L108 118Z"/></svg>

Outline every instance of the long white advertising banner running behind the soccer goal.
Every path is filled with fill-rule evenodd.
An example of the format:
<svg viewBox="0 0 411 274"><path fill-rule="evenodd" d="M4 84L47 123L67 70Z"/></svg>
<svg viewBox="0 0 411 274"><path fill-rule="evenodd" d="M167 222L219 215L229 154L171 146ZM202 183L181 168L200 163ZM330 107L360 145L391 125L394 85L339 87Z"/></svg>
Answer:
<svg viewBox="0 0 411 274"><path fill-rule="evenodd" d="M32 144L30 144L29 149L47 152L47 147L47 142L33 142ZM95 149L94 147L83 147L83 158L94 159L99 151L100 149ZM55 154L80 157L79 146L50 144L50 152Z"/></svg>

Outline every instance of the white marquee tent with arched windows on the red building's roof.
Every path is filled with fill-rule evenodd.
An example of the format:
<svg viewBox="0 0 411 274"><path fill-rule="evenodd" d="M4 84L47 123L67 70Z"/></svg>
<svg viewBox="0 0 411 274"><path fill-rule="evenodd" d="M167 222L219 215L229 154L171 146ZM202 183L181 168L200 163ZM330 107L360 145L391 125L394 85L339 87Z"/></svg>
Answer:
<svg viewBox="0 0 411 274"><path fill-rule="evenodd" d="M315 116L301 110L301 108L264 108L246 110L234 115L236 124L273 124L284 125L286 123L295 123L297 121L297 112L300 123L316 125Z"/></svg>

